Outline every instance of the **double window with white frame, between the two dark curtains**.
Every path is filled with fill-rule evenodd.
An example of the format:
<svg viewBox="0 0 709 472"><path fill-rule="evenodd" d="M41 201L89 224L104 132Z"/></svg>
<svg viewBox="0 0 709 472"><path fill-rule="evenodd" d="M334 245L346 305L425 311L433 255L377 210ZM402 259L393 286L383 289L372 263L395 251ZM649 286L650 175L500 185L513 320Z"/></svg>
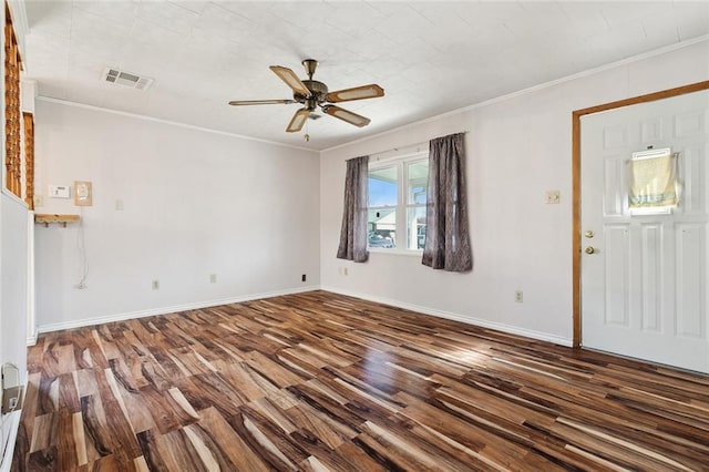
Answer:
<svg viewBox="0 0 709 472"><path fill-rule="evenodd" d="M428 182L428 153L370 164L370 249L423 249Z"/></svg>

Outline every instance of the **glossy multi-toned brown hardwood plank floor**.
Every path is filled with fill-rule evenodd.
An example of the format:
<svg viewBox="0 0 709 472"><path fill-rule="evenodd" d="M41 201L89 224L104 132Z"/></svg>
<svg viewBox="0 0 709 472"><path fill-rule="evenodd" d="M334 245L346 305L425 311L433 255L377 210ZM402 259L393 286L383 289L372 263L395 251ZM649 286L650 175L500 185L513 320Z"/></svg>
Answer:
<svg viewBox="0 0 709 472"><path fill-rule="evenodd" d="M709 470L709 379L326 291L40 336L13 470Z"/></svg>

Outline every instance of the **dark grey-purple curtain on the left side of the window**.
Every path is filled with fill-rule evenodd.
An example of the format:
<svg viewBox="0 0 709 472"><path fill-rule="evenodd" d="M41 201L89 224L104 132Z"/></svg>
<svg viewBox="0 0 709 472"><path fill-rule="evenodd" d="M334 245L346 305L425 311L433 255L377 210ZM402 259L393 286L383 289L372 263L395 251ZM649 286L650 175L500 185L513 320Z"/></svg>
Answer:
<svg viewBox="0 0 709 472"><path fill-rule="evenodd" d="M345 177L345 208L337 257L364 263L367 250L369 156L347 161Z"/></svg>

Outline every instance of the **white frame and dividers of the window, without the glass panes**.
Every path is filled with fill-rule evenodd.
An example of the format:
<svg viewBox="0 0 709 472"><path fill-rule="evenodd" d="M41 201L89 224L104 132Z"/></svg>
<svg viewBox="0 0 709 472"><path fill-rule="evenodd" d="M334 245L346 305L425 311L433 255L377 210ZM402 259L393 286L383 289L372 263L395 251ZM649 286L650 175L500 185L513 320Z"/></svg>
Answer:
<svg viewBox="0 0 709 472"><path fill-rule="evenodd" d="M417 151L413 153L408 153L404 155L399 155L399 156L393 156L393 157L388 157L388 158L380 158L380 160L376 160L372 161L370 160L369 162L369 167L368 167L368 178L369 177L369 173L371 171L376 171L379 168L386 168L386 167L395 167L397 168L397 205L392 206L392 205L378 205L378 206L372 206L369 205L367 206L367 215L368 215L368 232L369 232L369 212L372 209L394 209L395 214L397 214L397 218L395 218L395 244L397 246L393 248L386 248L386 247L371 247L369 245L369 234L367 237L367 250L369 250L370 253L376 253L376 254L392 254L392 255L399 255L399 256L418 256L420 257L421 254L423 254L423 248L417 248L417 249L410 249L409 248L409 226L408 226L408 218L409 218L409 211L412 208L425 208L427 204L428 204L428 197L427 197L427 203L422 203L422 204L417 204L417 203L411 203L409 202L409 164L415 163L415 162L422 162L429 161L429 150L427 148L425 151ZM428 191L427 191L428 194ZM400 230L400 228L403 228L403 232ZM402 238L403 236L403 238ZM403 243L403 246L402 246Z"/></svg>

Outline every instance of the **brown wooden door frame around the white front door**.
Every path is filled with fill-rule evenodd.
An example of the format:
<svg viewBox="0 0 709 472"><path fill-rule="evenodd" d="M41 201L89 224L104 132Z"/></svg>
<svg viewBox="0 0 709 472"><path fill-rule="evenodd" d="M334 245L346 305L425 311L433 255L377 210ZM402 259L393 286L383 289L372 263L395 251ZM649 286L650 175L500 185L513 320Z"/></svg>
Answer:
<svg viewBox="0 0 709 472"><path fill-rule="evenodd" d="M653 102L655 100L668 99L671 96L682 95L685 93L699 92L709 90L709 81L697 82L690 85L682 85L675 89L664 90L661 92L649 93L647 95L634 96L631 99L619 100L617 102L605 103L603 105L590 106L588 109L576 110L572 113L572 277L573 277L573 342L574 347L582 346L580 332L580 117L592 113L605 112L607 110L619 109L621 106L636 105L639 103Z"/></svg>

